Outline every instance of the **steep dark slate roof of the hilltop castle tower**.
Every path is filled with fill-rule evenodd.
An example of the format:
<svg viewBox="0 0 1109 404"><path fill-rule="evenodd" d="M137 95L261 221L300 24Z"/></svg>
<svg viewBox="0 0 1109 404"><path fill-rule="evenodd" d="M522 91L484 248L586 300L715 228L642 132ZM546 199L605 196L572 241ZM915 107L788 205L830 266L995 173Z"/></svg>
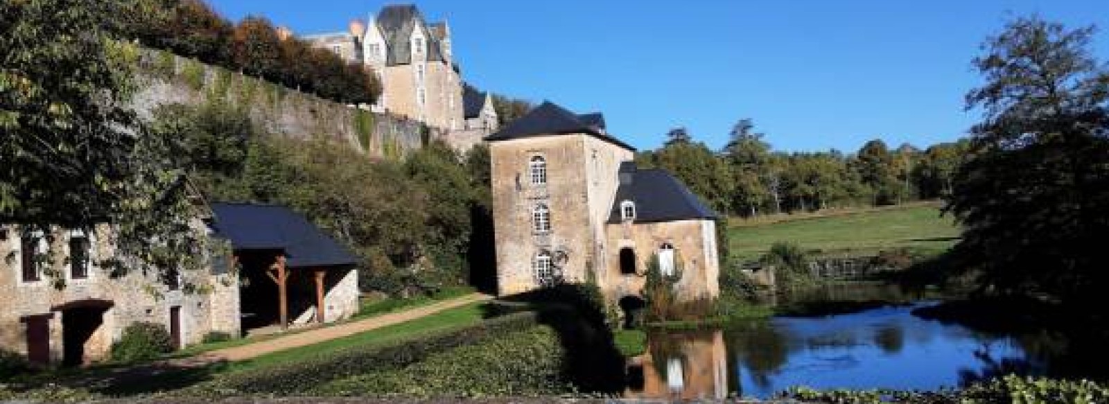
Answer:
<svg viewBox="0 0 1109 404"><path fill-rule="evenodd" d="M424 29L427 32L427 61L444 61L439 39L427 28L427 22L416 6L398 4L381 8L381 12L377 14L377 27L385 38L385 47L388 48L385 59L387 65L411 63L409 38L416 29Z"/></svg>

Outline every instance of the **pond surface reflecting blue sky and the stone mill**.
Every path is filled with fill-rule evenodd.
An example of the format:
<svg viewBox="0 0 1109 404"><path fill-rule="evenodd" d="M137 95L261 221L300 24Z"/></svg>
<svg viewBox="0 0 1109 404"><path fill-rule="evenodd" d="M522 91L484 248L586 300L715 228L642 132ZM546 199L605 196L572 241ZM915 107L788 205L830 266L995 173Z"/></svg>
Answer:
<svg viewBox="0 0 1109 404"><path fill-rule="evenodd" d="M728 330L652 332L631 361L634 398L767 397L791 386L936 390L999 374L1040 374L1032 336L973 332L887 306L821 317L776 317ZM1036 343L1032 343L1036 342ZM638 372L638 373L637 373Z"/></svg>

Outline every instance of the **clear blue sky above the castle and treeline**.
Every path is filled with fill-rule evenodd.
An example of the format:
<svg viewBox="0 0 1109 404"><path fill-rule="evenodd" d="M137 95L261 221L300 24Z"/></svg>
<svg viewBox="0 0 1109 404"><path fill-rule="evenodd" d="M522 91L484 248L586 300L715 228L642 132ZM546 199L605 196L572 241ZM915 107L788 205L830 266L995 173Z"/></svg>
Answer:
<svg viewBox="0 0 1109 404"><path fill-rule="evenodd" d="M386 1L210 0L237 20L261 14L297 33L344 30ZM1101 28L1106 0L428 0L447 19L464 79L579 112L655 148L672 127L721 147L751 118L775 149L854 151L950 141L975 121L978 46L1013 16Z"/></svg>

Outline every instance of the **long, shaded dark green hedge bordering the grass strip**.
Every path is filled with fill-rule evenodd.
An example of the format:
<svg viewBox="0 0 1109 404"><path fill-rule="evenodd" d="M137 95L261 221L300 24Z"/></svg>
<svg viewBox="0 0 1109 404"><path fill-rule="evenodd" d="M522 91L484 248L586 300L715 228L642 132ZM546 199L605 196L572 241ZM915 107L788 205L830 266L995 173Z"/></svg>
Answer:
<svg viewBox="0 0 1109 404"><path fill-rule="evenodd" d="M516 313L486 320L460 330L430 332L415 340L362 345L321 353L318 356L297 363L233 372L199 387L232 394L302 393L339 378L400 368L420 362L437 352L477 344L537 324L536 313Z"/></svg>

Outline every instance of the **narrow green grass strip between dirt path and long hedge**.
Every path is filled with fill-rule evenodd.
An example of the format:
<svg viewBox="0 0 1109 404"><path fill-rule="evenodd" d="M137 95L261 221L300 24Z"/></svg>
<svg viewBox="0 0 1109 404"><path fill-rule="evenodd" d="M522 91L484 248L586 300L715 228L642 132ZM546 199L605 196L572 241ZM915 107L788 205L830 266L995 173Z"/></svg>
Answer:
<svg viewBox="0 0 1109 404"><path fill-rule="evenodd" d="M225 371L238 371L281 363L296 363L302 358L311 357L324 352L332 352L358 345L386 344L434 331L459 329L477 324L484 319L485 311L481 309L484 304L485 303L482 302L471 303L400 324L394 324L308 346L274 352L272 354L262 355L252 360L235 362L230 364Z"/></svg>

